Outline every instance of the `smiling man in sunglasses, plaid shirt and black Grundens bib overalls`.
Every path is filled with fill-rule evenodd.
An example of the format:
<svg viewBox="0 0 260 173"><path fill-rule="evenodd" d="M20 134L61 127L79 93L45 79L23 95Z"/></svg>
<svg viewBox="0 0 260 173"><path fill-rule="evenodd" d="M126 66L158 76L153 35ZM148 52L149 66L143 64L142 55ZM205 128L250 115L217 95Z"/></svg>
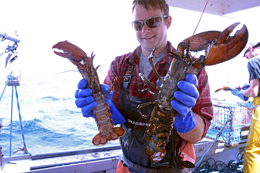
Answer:
<svg viewBox="0 0 260 173"><path fill-rule="evenodd" d="M102 92L106 93L114 78L118 79L105 98L114 125L120 124L126 131L119 139L123 154L120 155L116 172L188 173L195 163L193 144L205 137L213 118L207 73L205 69L201 69L196 74L187 74L185 80L178 83L180 91L174 93L176 99L171 101L172 108L177 111L172 125L172 133L177 131L176 139L170 135L165 157L160 161L152 161L144 153L149 117L143 119L137 112L137 106L157 98L148 92L138 92L138 89L147 87L138 74L141 72L156 84L157 77L148 63L148 56L156 47L157 57L153 59L155 68L160 76L166 76L173 59L168 57L166 52L175 51L167 41L167 30L172 18L165 0L134 0L133 18L132 25L140 46L131 53L116 57L111 63L104 84L101 84ZM150 90L158 92L151 86ZM85 117L93 116L92 109L96 106L90 94L86 80L81 80L75 98L77 107L81 108ZM153 107L154 105L149 105L145 108L145 114L151 114Z"/></svg>

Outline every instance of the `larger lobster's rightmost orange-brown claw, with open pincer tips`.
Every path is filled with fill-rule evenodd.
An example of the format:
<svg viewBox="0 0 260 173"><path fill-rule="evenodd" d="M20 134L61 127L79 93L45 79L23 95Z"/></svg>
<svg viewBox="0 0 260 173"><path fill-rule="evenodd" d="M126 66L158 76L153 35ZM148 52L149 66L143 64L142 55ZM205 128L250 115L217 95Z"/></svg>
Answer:
<svg viewBox="0 0 260 173"><path fill-rule="evenodd" d="M236 22L220 33L218 38L205 50L206 65L215 65L236 57L246 46L248 41L248 30L246 25L237 30L234 36L229 34L235 29Z"/></svg>

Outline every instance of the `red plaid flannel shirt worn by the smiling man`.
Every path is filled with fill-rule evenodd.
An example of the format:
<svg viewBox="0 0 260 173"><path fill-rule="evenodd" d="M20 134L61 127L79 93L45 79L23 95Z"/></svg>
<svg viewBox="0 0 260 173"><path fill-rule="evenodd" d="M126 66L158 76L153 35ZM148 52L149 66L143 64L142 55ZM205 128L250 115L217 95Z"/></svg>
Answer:
<svg viewBox="0 0 260 173"><path fill-rule="evenodd" d="M175 51L175 48L172 44L168 41L169 51ZM147 88L144 85L142 79L138 76L140 73L139 68L139 60L140 60L140 53L141 53L141 46L138 46L133 52L128 54L124 54L122 56L116 57L114 61L112 61L110 69L108 70L108 74L104 80L104 84L109 86L112 85L114 78L116 77L118 80L113 88L113 103L115 104L116 108L122 113L122 106L121 106L121 98L122 98L122 87L120 84L122 83L123 76L125 75L125 71L129 65L134 65L134 69L132 72L131 82L129 83L129 95L143 98L143 99L157 99L153 95L148 92L139 93L139 89ZM160 76L166 76L170 64L172 62L172 57L164 56L164 58L155 66L158 74ZM209 91L209 84L208 84L208 77L205 69L200 70L195 74L198 77L198 91L200 96L197 99L195 106L192 108L192 111L199 114L204 121L205 124L205 132L203 137L206 136L207 130L211 124L211 120L213 119L213 106L211 102L211 96ZM150 80L153 84L156 84L158 80L157 77L153 72L148 76L148 80ZM121 84L122 86L122 84ZM149 86L151 91L158 92L152 86ZM182 151L183 147L186 144L186 140L182 139L177 134L177 148L179 148L179 153Z"/></svg>

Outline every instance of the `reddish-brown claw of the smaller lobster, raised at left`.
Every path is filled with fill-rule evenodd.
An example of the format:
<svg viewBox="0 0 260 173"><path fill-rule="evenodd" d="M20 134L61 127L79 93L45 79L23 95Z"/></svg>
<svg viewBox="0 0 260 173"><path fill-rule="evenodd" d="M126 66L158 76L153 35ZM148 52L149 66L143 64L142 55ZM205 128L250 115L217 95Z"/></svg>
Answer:
<svg viewBox="0 0 260 173"><path fill-rule="evenodd" d="M56 52L55 50L54 53L63 58L68 58L72 61L82 61L83 57L86 57L87 55L81 48L75 46L74 44L68 42L67 40L65 40L64 42L58 42L57 44L52 46L52 48L63 50L63 53Z"/></svg>

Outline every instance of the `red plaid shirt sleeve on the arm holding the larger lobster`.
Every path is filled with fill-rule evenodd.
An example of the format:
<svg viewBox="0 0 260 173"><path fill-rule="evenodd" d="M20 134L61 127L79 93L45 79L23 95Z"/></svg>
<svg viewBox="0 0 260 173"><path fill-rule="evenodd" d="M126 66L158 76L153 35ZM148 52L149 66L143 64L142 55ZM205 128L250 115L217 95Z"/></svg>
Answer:
<svg viewBox="0 0 260 173"><path fill-rule="evenodd" d="M192 111L199 114L204 121L205 124L205 131L203 134L203 138L204 138L209 129L209 126L211 125L211 120L213 119L213 105L211 102L208 76L205 68L198 71L196 76L198 78L197 89L200 96L198 97L195 106L193 106Z"/></svg>

